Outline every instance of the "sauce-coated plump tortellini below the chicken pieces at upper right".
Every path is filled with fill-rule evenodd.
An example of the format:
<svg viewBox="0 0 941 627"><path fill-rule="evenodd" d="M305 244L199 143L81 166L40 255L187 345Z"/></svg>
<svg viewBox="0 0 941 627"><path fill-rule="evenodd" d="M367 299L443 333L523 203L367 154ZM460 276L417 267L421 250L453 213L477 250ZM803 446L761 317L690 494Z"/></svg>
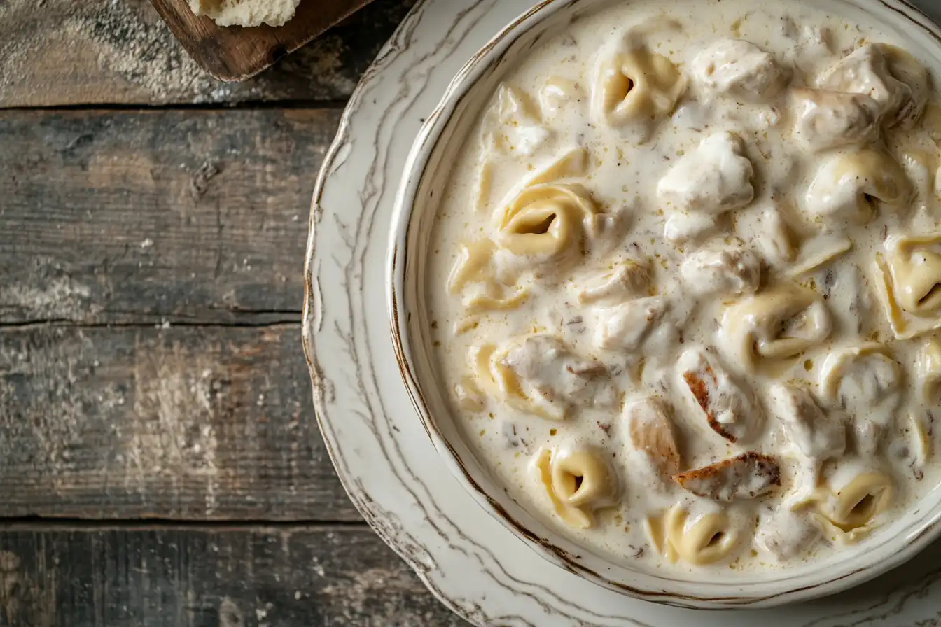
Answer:
<svg viewBox="0 0 941 627"><path fill-rule="evenodd" d="M875 217L875 201L901 209L912 196L901 165L880 150L841 150L827 157L804 195L802 209L819 227L863 225Z"/></svg>

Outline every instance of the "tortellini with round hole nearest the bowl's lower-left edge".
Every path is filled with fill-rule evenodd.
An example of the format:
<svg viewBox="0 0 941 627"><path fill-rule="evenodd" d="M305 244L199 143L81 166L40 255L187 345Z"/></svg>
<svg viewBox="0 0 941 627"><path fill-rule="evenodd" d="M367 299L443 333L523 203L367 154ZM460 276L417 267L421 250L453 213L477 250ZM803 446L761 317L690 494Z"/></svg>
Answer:
<svg viewBox="0 0 941 627"><path fill-rule="evenodd" d="M566 525L587 529L594 525L596 509L614 504L614 473L591 449L543 448L534 466L552 509Z"/></svg>

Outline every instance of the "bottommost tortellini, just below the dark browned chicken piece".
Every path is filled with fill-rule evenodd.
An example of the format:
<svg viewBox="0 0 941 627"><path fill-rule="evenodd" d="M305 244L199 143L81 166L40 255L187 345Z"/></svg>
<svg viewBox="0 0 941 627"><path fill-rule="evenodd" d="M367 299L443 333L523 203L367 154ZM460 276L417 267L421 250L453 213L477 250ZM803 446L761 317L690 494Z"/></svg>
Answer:
<svg viewBox="0 0 941 627"><path fill-rule="evenodd" d="M741 533L725 510L709 511L690 520L690 512L677 504L662 516L647 519L647 534L654 548L670 562L679 559L706 566L735 553Z"/></svg>

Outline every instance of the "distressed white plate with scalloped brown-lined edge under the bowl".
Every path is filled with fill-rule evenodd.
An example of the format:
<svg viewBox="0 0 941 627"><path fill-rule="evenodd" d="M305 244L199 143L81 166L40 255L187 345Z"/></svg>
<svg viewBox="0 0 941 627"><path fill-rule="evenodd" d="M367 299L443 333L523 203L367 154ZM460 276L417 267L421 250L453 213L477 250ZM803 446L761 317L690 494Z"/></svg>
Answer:
<svg viewBox="0 0 941 627"><path fill-rule="evenodd" d="M941 624L941 545L850 592L766 611L645 603L548 564L453 478L415 414L392 352L384 263L407 153L452 76L530 0L424 0L351 99L318 180L304 344L321 431L375 530L478 625L810 627ZM918 3L935 19L937 0Z"/></svg>

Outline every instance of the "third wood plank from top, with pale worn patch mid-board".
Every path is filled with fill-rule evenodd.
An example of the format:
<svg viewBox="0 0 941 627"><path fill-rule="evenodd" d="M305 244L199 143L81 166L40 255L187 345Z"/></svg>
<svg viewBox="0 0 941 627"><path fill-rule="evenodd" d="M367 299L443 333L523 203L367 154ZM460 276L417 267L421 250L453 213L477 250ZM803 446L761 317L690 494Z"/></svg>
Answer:
<svg viewBox="0 0 941 627"><path fill-rule="evenodd" d="M298 324L0 330L0 518L359 521Z"/></svg>

